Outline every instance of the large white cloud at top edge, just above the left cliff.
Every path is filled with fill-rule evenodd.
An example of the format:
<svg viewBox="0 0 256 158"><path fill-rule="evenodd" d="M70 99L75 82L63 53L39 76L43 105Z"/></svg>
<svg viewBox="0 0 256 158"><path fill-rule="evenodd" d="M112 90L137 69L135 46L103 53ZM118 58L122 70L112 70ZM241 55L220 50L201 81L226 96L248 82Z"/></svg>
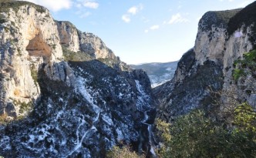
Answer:
<svg viewBox="0 0 256 158"><path fill-rule="evenodd" d="M53 12L58 12L59 10L65 8L70 8L72 6L72 0L26 0L28 2L35 3L37 5L45 6Z"/></svg>

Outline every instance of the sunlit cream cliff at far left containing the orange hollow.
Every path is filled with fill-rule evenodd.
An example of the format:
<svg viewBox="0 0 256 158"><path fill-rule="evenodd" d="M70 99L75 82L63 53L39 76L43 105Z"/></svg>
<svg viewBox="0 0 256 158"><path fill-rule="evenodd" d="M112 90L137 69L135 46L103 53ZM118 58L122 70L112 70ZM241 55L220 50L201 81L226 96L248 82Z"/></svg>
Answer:
<svg viewBox="0 0 256 158"><path fill-rule="evenodd" d="M59 62L62 48L47 9L26 2L1 2L0 17L0 113L16 117L19 103L33 102L40 95L39 66Z"/></svg>

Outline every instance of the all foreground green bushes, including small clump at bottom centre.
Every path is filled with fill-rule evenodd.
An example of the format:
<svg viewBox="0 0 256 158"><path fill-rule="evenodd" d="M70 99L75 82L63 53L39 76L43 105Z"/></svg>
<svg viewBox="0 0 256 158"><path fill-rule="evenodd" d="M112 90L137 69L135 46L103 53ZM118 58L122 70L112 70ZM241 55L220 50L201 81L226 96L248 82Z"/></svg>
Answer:
<svg viewBox="0 0 256 158"><path fill-rule="evenodd" d="M195 110L173 123L156 120L162 142L159 157L254 157L256 155L256 111L248 103L233 111L232 123L207 117ZM140 157L124 146L114 147L109 157ZM133 156L132 156L133 155Z"/></svg>

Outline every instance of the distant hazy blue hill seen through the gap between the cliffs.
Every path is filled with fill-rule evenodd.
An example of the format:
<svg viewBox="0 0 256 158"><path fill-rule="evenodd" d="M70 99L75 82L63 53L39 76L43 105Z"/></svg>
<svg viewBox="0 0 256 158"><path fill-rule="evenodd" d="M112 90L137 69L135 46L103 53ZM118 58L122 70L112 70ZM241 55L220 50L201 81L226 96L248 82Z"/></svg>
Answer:
<svg viewBox="0 0 256 158"><path fill-rule="evenodd" d="M140 65L130 65L133 69L143 69L150 77L152 87L160 86L173 78L177 68L176 62L152 62Z"/></svg>

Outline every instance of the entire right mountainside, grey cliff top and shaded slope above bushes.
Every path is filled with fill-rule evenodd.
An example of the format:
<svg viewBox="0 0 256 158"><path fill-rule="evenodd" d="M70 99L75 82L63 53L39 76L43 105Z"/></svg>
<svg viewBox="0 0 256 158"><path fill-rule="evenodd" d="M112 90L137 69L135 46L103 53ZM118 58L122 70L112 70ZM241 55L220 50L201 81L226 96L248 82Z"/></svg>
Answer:
<svg viewBox="0 0 256 158"><path fill-rule="evenodd" d="M171 121L192 109L214 108L213 100L220 97L228 102L212 92L232 92L237 99L256 103L255 82L251 94L246 94L232 76L234 61L255 48L255 9L254 2L243 9L207 12L200 19L194 48L180 59L173 79L154 89L160 101L157 116Z"/></svg>

